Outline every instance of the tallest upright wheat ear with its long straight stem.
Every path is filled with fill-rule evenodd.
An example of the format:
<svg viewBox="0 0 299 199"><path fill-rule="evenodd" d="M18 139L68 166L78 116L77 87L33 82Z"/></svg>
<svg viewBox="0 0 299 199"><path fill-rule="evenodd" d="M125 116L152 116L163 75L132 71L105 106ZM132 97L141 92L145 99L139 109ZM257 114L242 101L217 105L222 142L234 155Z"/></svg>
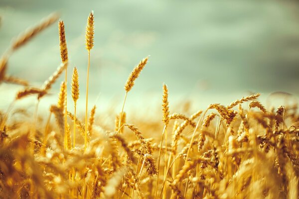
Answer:
<svg viewBox="0 0 299 199"><path fill-rule="evenodd" d="M88 79L89 79L89 66L90 66L90 50L93 48L94 45L94 14L93 11L90 12L88 19L87 19L87 26L86 26L86 49L88 51L88 64L87 64L87 78L86 78L86 105L85 105L85 135L84 135L84 151L87 147L87 112L88 112Z"/></svg>

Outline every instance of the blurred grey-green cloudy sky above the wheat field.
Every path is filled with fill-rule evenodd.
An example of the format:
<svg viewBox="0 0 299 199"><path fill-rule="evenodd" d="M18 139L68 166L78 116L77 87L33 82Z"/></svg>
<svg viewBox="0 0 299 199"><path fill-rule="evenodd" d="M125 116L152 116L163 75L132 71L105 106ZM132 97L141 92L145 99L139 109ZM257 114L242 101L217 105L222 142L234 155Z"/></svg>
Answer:
<svg viewBox="0 0 299 199"><path fill-rule="evenodd" d="M91 10L90 104L102 109L107 104L120 108L129 74L148 55L127 106L160 106L163 82L172 103L193 101L195 106L257 92L262 99L274 92L299 94L299 3L292 0L1 0L0 53L18 33L58 11L66 28L69 80L76 66L79 103L84 104L84 36ZM52 25L13 54L8 73L40 86L59 64L58 28ZM48 101L55 103L62 79ZM1 107L18 89L0 85L6 92L0 95Z"/></svg>

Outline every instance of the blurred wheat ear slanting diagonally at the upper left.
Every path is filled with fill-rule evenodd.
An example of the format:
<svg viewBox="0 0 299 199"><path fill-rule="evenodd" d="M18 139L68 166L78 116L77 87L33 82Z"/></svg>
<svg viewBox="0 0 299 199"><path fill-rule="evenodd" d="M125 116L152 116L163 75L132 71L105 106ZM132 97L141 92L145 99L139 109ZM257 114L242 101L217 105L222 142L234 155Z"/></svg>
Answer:
<svg viewBox="0 0 299 199"><path fill-rule="evenodd" d="M15 40L13 40L11 47L12 50L16 50L17 48L26 44L30 39L32 39L35 35L39 32L53 24L57 21L59 15L57 13L52 13L46 18L42 19L41 22L35 25L33 28L26 30L25 32L21 33Z"/></svg>

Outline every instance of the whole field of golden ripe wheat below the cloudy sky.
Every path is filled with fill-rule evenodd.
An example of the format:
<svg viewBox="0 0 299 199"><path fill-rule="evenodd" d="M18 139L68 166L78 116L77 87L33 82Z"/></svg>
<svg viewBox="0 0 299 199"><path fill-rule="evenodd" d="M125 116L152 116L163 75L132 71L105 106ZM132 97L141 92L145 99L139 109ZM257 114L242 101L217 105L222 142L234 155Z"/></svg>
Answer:
<svg viewBox="0 0 299 199"><path fill-rule="evenodd" d="M133 121L126 121L130 111L126 115L124 107L147 57L125 84L125 100L115 126L95 122L96 106L88 117L93 12L86 27L85 122L76 116L76 68L70 88L74 112L67 108L68 50L63 21L58 23L62 63L42 87L30 87L26 81L7 75L10 55L58 18L51 14L21 33L0 58L0 81L24 86L0 114L1 199L299 199L296 105L267 110L257 101L260 94L255 94L229 105L210 104L187 116L170 113L168 89L163 85L162 121L145 121L145 115L139 119L142 128L138 128L130 124ZM38 119L38 102L63 73L58 103ZM38 101L32 114L12 111L16 101L32 95ZM20 119L23 117L16 113L33 119ZM51 121L51 116L56 120Z"/></svg>

